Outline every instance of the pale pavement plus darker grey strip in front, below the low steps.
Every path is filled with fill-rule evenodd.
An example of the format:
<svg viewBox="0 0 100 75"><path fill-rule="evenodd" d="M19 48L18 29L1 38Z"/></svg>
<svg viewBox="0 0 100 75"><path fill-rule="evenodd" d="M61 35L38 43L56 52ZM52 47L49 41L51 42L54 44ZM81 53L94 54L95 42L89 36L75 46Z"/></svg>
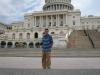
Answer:
<svg viewBox="0 0 100 75"><path fill-rule="evenodd" d="M100 58L52 58L43 70L39 57L0 57L0 75L100 75Z"/></svg>

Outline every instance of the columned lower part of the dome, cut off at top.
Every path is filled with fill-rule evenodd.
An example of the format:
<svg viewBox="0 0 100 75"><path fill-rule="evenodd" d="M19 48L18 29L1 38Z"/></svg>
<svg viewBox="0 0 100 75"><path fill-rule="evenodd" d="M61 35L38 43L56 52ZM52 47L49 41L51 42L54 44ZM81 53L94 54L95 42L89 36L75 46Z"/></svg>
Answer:
<svg viewBox="0 0 100 75"><path fill-rule="evenodd" d="M71 0L45 0L45 3L46 4L43 6L44 11L74 9Z"/></svg>

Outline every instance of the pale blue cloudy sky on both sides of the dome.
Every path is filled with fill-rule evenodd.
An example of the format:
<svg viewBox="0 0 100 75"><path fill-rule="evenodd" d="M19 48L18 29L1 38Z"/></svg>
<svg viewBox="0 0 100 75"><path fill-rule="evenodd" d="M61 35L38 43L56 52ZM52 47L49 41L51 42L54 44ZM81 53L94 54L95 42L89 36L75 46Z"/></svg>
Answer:
<svg viewBox="0 0 100 75"><path fill-rule="evenodd" d="M82 15L100 15L100 0L72 0ZM42 10L44 0L0 0L0 22L22 21L25 13Z"/></svg>

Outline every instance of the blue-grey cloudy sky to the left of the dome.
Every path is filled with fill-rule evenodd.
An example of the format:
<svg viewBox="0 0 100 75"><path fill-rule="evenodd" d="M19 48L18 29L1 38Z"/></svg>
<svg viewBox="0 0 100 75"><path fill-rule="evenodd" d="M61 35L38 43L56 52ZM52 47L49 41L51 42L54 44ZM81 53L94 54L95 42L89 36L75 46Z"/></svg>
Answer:
<svg viewBox="0 0 100 75"><path fill-rule="evenodd" d="M11 23L14 20L22 19L25 13L41 9L42 2L40 3L40 1L41 0L1 0L0 21Z"/></svg>

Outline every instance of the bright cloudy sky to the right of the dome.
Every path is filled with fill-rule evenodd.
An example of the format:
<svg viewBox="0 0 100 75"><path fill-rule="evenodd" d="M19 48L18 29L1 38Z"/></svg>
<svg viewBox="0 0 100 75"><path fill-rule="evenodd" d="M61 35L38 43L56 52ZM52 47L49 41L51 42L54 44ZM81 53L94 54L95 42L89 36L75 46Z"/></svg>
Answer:
<svg viewBox="0 0 100 75"><path fill-rule="evenodd" d="M100 0L72 0L75 8L80 9L82 15L98 15Z"/></svg>

